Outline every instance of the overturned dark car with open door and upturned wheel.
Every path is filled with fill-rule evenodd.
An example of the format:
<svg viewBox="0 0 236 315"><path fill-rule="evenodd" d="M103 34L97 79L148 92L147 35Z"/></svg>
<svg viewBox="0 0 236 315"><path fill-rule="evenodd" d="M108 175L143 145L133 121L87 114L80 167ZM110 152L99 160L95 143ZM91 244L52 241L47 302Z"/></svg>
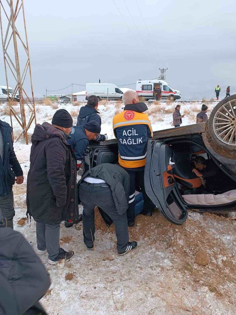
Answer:
<svg viewBox="0 0 236 315"><path fill-rule="evenodd" d="M84 170L100 163L117 163L117 155L116 139L89 146ZM236 189L236 95L220 101L206 123L155 131L153 139L148 141L145 189L162 215L173 224L181 225L186 221L187 209L236 211L236 198L212 205L188 204L183 199L181 186L199 187L199 177L188 166L191 158L198 155L212 160L219 168L218 176L228 176L232 189Z"/></svg>

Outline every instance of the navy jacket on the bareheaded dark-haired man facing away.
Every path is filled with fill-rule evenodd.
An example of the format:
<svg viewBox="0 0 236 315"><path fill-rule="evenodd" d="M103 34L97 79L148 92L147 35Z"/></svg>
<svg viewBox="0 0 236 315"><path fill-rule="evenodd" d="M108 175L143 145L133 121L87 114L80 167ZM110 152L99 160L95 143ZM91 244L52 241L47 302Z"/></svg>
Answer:
<svg viewBox="0 0 236 315"><path fill-rule="evenodd" d="M96 120L97 123L99 123L99 126L101 126L101 117L98 115L99 112L91 105L85 105L81 107L79 116L77 118L77 124L76 126L84 126L86 123L88 123L91 120ZM105 141L106 138L104 135L98 135L96 141ZM93 142L94 144L94 142Z"/></svg>

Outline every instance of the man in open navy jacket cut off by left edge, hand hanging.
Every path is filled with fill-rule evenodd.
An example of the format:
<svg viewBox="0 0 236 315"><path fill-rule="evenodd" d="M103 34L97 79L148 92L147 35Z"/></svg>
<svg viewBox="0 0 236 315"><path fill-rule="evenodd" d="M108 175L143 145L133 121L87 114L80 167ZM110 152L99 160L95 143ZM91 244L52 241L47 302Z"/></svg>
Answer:
<svg viewBox="0 0 236 315"><path fill-rule="evenodd" d="M12 186L24 181L23 171L18 162L12 142L12 128L0 120L0 216L7 219L13 228L14 199Z"/></svg>

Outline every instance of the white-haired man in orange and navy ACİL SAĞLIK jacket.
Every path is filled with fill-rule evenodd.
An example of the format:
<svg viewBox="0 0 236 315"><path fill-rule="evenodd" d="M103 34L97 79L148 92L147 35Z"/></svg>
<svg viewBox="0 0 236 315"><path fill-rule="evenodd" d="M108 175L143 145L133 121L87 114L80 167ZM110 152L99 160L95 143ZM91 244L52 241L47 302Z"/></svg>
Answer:
<svg viewBox="0 0 236 315"><path fill-rule="evenodd" d="M144 167L147 155L148 138L153 132L144 103L139 103L138 94L132 90L124 93L124 111L113 117L114 135L118 139L119 164L130 175L129 208L127 210L128 226L134 226L134 199L136 182L143 193L143 215L152 215L151 201L144 189Z"/></svg>

